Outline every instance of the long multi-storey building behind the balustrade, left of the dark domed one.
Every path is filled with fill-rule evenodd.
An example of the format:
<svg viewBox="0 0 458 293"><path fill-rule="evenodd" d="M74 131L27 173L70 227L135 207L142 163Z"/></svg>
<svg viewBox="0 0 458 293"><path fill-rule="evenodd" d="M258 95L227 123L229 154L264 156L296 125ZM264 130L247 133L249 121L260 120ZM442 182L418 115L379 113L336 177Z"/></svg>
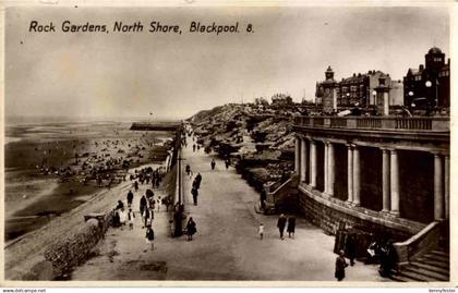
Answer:
<svg viewBox="0 0 458 293"><path fill-rule="evenodd" d="M381 80L389 89L389 105L402 105L402 94L399 93L399 82L394 82L389 74L371 70L367 73L353 73L352 76L334 80L334 71L330 66L325 72L326 80L316 83L316 103L323 105L324 112L333 112L354 106L369 107L379 106L376 88L381 86ZM402 90L402 88L401 88Z"/></svg>

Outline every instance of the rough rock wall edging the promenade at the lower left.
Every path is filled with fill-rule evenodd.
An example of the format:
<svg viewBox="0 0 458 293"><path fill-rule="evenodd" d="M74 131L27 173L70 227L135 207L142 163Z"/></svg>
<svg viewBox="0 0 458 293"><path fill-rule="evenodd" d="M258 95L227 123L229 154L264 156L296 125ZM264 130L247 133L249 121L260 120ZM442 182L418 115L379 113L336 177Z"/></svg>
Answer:
<svg viewBox="0 0 458 293"><path fill-rule="evenodd" d="M41 276L53 280L62 277L72 268L83 264L92 249L104 239L112 219L112 211L101 219L89 219L71 236L59 240L45 251L45 259L52 265L51 276Z"/></svg>

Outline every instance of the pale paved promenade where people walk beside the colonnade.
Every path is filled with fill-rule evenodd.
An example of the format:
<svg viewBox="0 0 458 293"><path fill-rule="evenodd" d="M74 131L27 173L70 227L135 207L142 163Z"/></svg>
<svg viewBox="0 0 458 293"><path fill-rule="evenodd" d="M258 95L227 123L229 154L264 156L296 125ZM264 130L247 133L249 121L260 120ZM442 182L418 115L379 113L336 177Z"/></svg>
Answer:
<svg viewBox="0 0 458 293"><path fill-rule="evenodd" d="M198 205L192 204L192 179L184 178L186 215L193 217L197 233L192 242L185 236L172 239L165 206L156 211L153 228L155 251L145 243L140 215L134 230L109 229L98 253L72 273L73 280L272 280L335 281L334 237L298 218L296 239L279 239L277 216L255 213L258 194L231 167L203 149L183 149L183 170L189 163L201 172ZM183 172L184 174L184 172ZM141 185L134 197L138 210ZM156 196L158 193L155 191ZM120 199L125 200L125 194ZM116 204L116 203L113 203ZM257 235L265 225L264 240ZM357 263L347 268L348 281L387 281L378 277L376 266Z"/></svg>

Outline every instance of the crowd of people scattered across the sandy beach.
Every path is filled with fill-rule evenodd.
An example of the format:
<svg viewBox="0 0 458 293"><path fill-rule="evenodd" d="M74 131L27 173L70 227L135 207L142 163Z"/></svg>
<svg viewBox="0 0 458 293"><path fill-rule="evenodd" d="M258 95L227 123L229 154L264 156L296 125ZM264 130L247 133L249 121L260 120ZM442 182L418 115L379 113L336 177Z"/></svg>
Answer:
<svg viewBox="0 0 458 293"><path fill-rule="evenodd" d="M113 135L119 135L114 132ZM111 187L126 180L130 168L145 162L154 146L147 134L137 138L55 141L35 147L35 169L62 182L76 180L87 185Z"/></svg>

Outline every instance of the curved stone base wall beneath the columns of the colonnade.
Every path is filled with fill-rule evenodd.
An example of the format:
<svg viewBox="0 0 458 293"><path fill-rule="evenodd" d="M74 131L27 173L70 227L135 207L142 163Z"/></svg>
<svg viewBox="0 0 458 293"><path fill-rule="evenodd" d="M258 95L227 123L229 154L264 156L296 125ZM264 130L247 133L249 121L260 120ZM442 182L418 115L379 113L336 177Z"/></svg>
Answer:
<svg viewBox="0 0 458 293"><path fill-rule="evenodd" d="M335 204L325 198L318 200L318 196L314 195L313 192L304 191L302 186L299 190L300 211L310 222L333 235L343 223L347 228L358 228L374 235L390 237L394 241L405 241L421 229L405 223L388 222L370 215L358 217L351 208L348 208L348 212L345 212L343 207L340 209L334 208L333 205Z"/></svg>

